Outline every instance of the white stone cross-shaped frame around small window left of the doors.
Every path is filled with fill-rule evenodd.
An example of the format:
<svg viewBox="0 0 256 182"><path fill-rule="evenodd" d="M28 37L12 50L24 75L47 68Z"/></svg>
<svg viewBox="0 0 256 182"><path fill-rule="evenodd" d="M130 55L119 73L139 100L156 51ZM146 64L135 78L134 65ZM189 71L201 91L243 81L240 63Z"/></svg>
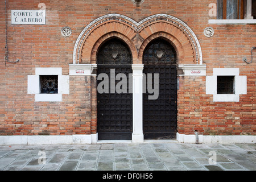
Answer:
<svg viewBox="0 0 256 182"><path fill-rule="evenodd" d="M40 75L58 76L58 93L40 93ZM62 68L35 68L35 75L27 76L27 93L35 94L35 102L61 102L62 94L69 94L69 75L62 75Z"/></svg>

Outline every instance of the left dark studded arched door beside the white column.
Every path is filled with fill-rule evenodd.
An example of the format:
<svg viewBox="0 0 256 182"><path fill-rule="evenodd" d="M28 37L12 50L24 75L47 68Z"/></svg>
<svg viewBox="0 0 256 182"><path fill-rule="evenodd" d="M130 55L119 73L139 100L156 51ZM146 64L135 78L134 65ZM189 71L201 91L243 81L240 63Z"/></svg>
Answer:
<svg viewBox="0 0 256 182"><path fill-rule="evenodd" d="M117 38L107 40L98 50L97 132L100 140L131 140L132 61L129 47Z"/></svg>

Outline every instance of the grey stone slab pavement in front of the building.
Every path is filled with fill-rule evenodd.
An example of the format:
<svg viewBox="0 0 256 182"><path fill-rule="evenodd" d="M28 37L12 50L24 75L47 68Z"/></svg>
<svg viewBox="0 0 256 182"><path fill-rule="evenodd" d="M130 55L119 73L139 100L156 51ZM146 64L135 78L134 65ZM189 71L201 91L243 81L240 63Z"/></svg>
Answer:
<svg viewBox="0 0 256 182"><path fill-rule="evenodd" d="M0 146L0 170L256 170L256 144L175 142Z"/></svg>

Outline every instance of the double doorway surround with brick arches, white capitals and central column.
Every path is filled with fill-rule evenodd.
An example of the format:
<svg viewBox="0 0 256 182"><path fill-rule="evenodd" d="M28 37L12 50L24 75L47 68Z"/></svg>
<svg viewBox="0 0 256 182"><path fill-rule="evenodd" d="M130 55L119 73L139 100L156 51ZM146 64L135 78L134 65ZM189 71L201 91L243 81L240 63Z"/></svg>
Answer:
<svg viewBox="0 0 256 182"><path fill-rule="evenodd" d="M98 121L101 122L101 119L98 117L97 112L97 110L100 110L97 107L97 92L95 92L97 89L97 83L94 82L93 79L94 77L97 77L97 74L95 74L95 68L100 67L100 65L97 66L99 49L111 38L118 38L125 42L125 45L127 44L129 46L129 51L132 53L134 85L132 140L133 142L143 142L143 94L141 90L144 64L143 53L148 43L150 43L152 40L162 38L167 40L168 43L171 43L171 45L175 47L177 58L179 59L178 65L176 66L178 71L177 75L178 77L181 76L180 78L182 78L180 79L181 85L184 85L184 83L187 82L192 75L206 75L206 65L203 64L201 46L195 33L187 25L187 23L167 14L151 15L141 20L141 22L135 22L135 20L125 15L107 14L100 16L93 20L93 22L89 23L84 30L82 30L76 40L73 50L73 64L69 64L69 75L92 77L92 84L88 85L90 86L90 99L88 98L88 107L91 108L91 112L90 115L86 115L86 119L88 119L88 121L90 120L90 127L88 127L88 129L90 128L90 131L87 132L88 134L91 133L92 136L95 137L93 142L97 139L102 139L101 137L97 137L98 131L100 131L98 130ZM174 66L173 64L171 65ZM174 68L172 66L171 68ZM147 69L146 67L147 64L145 64L145 70ZM77 70L82 71L82 73L77 72ZM146 73L145 70L144 73ZM199 71L199 74L194 75L190 72L191 70ZM182 102L184 97L184 87L180 87L179 91L178 100L179 98L181 98L181 100L179 101L178 105L178 132L180 134L185 134L188 131L184 130L185 118L182 114L184 113L184 102ZM168 95L166 97L167 101ZM174 100L172 96L169 96L169 100L170 97L171 100ZM146 125L144 124L144 126ZM146 131L145 127L144 131ZM191 130L189 130L189 132L190 131ZM100 134L100 136L102 135Z"/></svg>

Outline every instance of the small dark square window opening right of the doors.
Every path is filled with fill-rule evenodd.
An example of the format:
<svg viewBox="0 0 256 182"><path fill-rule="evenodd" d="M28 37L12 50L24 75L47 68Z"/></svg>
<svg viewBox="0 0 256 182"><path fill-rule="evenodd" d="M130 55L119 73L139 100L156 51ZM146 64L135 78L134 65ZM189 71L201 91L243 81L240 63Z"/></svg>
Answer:
<svg viewBox="0 0 256 182"><path fill-rule="evenodd" d="M217 94L234 94L234 76L217 76Z"/></svg>

